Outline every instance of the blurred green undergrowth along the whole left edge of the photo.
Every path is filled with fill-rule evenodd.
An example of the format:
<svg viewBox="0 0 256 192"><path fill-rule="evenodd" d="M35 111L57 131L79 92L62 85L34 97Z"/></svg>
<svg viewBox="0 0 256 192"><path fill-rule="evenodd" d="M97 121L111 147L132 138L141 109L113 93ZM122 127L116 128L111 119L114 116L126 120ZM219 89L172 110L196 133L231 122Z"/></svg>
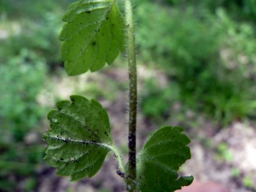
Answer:
<svg viewBox="0 0 256 192"><path fill-rule="evenodd" d="M62 1L66 5L71 1ZM32 191L43 162L49 106L38 96L49 64L61 62L61 1L0 1L0 190ZM19 184L22 182L22 184Z"/></svg>

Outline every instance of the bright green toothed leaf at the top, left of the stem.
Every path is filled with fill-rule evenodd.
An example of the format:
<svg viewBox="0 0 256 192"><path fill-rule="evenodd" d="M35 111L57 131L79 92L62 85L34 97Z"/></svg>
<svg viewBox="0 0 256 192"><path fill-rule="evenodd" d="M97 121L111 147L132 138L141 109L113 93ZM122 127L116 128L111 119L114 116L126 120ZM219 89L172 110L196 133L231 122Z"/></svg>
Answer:
<svg viewBox="0 0 256 192"><path fill-rule="evenodd" d="M70 5L60 39L68 75L95 72L124 51L125 22L115 0L81 0Z"/></svg>

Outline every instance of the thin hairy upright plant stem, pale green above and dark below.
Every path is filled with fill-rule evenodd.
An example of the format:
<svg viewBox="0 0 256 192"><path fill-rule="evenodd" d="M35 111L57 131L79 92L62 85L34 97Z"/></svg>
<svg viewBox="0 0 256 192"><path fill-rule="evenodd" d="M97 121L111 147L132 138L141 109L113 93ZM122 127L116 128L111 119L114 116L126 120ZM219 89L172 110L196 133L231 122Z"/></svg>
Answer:
<svg viewBox="0 0 256 192"><path fill-rule="evenodd" d="M129 67L129 161L126 189L132 192L136 190L137 66L131 0L125 0L125 21L127 27L126 44Z"/></svg>

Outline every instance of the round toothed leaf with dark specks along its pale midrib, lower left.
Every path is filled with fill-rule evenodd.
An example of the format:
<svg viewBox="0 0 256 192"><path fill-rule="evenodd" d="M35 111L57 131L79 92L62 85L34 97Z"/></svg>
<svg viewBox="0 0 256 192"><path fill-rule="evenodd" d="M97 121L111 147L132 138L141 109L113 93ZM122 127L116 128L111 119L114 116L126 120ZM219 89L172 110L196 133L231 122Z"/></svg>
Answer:
<svg viewBox="0 0 256 192"><path fill-rule="evenodd" d="M57 103L48 114L51 129L44 134L48 144L44 160L71 180L92 177L100 170L113 146L108 113L102 105L83 96Z"/></svg>

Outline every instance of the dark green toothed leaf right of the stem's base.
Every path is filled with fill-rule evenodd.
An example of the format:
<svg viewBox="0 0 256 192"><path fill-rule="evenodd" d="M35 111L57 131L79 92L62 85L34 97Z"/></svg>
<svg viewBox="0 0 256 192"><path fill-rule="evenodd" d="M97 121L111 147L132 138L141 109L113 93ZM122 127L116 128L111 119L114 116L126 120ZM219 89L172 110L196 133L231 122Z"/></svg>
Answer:
<svg viewBox="0 0 256 192"><path fill-rule="evenodd" d="M137 188L142 192L172 192L188 186L193 177L178 177L177 170L191 158L190 140L182 127L160 128L148 139L139 154L137 166Z"/></svg>

